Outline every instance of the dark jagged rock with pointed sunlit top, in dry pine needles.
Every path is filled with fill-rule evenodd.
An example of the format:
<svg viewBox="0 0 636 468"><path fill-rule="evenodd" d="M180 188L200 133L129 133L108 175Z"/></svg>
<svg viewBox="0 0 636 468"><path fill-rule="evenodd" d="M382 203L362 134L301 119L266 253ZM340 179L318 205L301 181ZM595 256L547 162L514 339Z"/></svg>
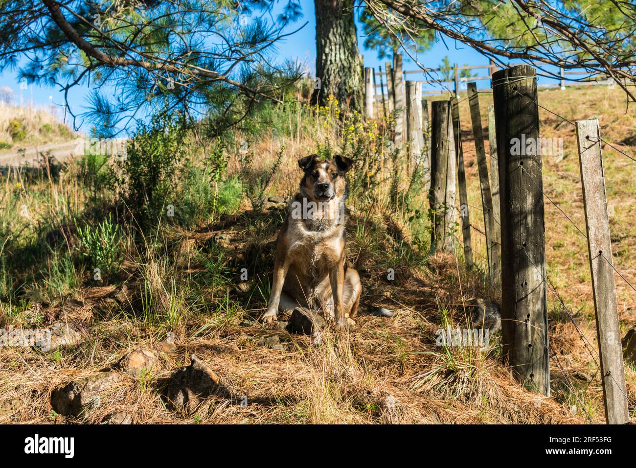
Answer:
<svg viewBox="0 0 636 468"><path fill-rule="evenodd" d="M190 411L200 401L219 389L219 378L195 355L190 365L181 367L170 375L166 397L169 408Z"/></svg>

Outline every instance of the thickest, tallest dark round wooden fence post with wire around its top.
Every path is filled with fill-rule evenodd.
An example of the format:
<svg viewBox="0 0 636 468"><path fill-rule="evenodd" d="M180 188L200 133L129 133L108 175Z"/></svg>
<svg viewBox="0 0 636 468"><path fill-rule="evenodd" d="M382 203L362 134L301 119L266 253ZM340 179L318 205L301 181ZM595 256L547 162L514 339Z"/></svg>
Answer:
<svg viewBox="0 0 636 468"><path fill-rule="evenodd" d="M501 199L502 348L518 381L550 395L541 155L517 151L522 138L539 142L536 71L528 65L499 70L492 76L492 91Z"/></svg>

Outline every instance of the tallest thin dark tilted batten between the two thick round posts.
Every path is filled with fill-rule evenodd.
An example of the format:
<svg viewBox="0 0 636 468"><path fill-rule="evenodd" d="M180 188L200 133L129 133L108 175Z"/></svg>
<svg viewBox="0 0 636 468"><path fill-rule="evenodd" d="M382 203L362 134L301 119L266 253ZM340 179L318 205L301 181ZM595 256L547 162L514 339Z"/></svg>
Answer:
<svg viewBox="0 0 636 468"><path fill-rule="evenodd" d="M501 251L495 243L495 218L492 212L492 192L488 180L488 163L486 161L486 149L483 146L483 129L481 128L481 111L479 108L479 94L475 82L468 83L468 103L471 108L471 120L473 121L473 137L475 152L477 153L477 167L481 187L481 206L483 208L483 224L486 232L486 249L488 252L488 271L490 281L495 289L501 284L501 270L499 258Z"/></svg>

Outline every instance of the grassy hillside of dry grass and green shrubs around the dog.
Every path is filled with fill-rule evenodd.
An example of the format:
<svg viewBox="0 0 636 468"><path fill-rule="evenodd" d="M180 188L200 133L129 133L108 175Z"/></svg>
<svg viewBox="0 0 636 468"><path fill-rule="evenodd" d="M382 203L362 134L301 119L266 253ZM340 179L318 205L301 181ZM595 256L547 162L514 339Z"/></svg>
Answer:
<svg viewBox="0 0 636 468"><path fill-rule="evenodd" d="M486 116L489 95L480 97ZM635 116L631 108L625 113L618 90L545 91L539 102L570 120L597 113L604 138L636 152L629 146ZM480 207L467 101L460 106L470 204ZM499 336L485 351L436 346L440 327L467 326L470 298L497 301L497 291L488 288L483 264L467 275L460 258L429 255L421 174L389 152L385 122L340 122L339 114L333 101L317 109L271 108L214 139L205 139L205 125L191 134L155 122L133 139L126 161L87 156L59 174L1 180L0 327L61 320L72 323L81 342L50 352L1 350L0 423L99 423L120 412L134 423L583 423L581 401L593 422L602 422L598 373L551 295L550 335L565 374L552 365L551 398L513 381L501 364ZM544 188L583 229L574 132L558 123L541 112L542 136L562 136L566 152L558 162L544 159ZM316 342L256 320L286 213L268 198L294 194L296 161L312 152L356 159L347 260L363 281L356 327L345 336L327 330ZM150 168L160 168L158 183ZM636 163L606 149L605 169L616 266L634 282ZM471 222L483 230L477 213L471 211ZM548 273L595 344L584 239L548 201L546 217ZM394 281L387 280L390 268ZM635 295L620 278L617 287L626 330L636 322ZM378 306L395 315L366 313ZM282 348L263 346L271 336ZM93 376L136 348L157 355L149 372L121 379L79 417L53 411L55 388ZM188 411L172 411L163 396L167 379L192 353L216 373L221 390ZM627 379L633 401L634 369Z"/></svg>

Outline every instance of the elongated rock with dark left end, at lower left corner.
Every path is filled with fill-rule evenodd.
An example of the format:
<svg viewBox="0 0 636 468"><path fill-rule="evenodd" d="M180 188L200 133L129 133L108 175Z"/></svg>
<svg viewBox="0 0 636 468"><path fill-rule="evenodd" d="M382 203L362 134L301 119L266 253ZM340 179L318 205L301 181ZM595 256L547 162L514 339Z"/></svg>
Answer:
<svg viewBox="0 0 636 468"><path fill-rule="evenodd" d="M51 406L64 416L79 416L92 406L100 406L102 395L121 380L116 372L99 372L99 374L79 379L56 388L51 394Z"/></svg>

